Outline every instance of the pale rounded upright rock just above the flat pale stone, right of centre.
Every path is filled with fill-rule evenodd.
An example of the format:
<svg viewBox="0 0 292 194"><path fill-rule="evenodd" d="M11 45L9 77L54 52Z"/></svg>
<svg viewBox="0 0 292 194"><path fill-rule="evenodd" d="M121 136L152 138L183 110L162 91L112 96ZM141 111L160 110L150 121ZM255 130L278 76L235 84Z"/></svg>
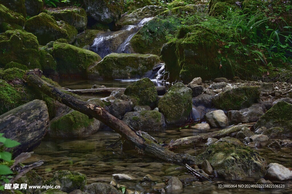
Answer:
<svg viewBox="0 0 292 194"><path fill-rule="evenodd" d="M213 128L222 128L228 126L228 118L222 110L207 113L205 115L205 119Z"/></svg>

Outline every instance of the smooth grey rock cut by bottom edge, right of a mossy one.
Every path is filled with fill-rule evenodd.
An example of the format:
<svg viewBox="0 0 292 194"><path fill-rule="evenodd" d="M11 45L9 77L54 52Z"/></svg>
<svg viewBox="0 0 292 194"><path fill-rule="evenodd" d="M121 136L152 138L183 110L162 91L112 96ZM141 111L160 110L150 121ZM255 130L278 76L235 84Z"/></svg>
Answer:
<svg viewBox="0 0 292 194"><path fill-rule="evenodd" d="M84 187L84 192L89 194L96 193L119 193L119 191L112 185L105 183L92 183Z"/></svg>

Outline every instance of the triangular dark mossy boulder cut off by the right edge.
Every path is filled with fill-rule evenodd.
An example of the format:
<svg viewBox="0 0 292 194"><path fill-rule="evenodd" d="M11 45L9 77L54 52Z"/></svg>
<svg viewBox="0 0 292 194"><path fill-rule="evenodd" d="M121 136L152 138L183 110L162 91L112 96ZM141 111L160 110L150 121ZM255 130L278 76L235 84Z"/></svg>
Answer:
<svg viewBox="0 0 292 194"><path fill-rule="evenodd" d="M292 129L292 104L280 101L260 117L255 124L255 129L266 127L281 127L285 130Z"/></svg>

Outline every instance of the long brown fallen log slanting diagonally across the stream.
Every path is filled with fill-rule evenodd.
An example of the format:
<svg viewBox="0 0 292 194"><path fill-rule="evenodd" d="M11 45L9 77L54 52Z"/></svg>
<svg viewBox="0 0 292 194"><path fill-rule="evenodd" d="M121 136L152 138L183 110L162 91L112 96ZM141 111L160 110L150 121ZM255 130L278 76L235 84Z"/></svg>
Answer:
<svg viewBox="0 0 292 194"><path fill-rule="evenodd" d="M41 72L39 69L27 71L24 74L23 79L29 84L29 86L44 92L46 95L58 100L66 106L84 113L90 118L96 118L100 120L107 126L111 127L115 132L120 134L126 141L135 145L138 149L138 152L142 152L149 156L157 157L165 161L176 162L180 164L197 163L198 160L195 156L191 156L190 154L176 154L166 149L165 147L161 147L159 144L144 139L135 130L128 127L128 125L126 125L123 121L109 114L106 109L102 108L101 106L79 100L46 83L40 78L39 72Z"/></svg>

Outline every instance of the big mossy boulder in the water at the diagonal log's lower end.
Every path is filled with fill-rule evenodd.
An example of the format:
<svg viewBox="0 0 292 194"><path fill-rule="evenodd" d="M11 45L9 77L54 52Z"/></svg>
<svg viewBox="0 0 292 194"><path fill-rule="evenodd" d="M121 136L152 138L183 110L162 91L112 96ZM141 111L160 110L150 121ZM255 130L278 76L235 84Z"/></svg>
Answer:
<svg viewBox="0 0 292 194"><path fill-rule="evenodd" d="M205 152L197 156L199 162L208 160L218 175L225 179L240 180L247 177L260 178L267 163L258 152L248 146L228 142L210 145Z"/></svg>

